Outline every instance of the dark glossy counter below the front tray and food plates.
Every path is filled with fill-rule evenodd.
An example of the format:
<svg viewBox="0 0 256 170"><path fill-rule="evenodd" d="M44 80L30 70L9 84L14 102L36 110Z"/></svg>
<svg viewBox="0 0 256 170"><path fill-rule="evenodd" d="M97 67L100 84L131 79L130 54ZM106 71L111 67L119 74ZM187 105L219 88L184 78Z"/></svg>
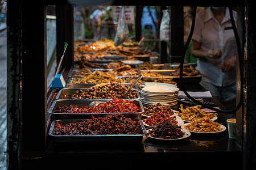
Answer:
<svg viewBox="0 0 256 170"><path fill-rule="evenodd" d="M216 100L213 99L213 102L223 108ZM235 116L218 113L217 117L216 122L227 128L226 120ZM242 167L242 149L237 145L235 139L229 139L228 128L224 132L216 134L192 133L189 138L178 141L159 141L144 136L142 142L136 145L127 145L127 143L125 145L122 143L115 145L104 145L104 143L102 145L87 145L86 143L56 145L51 138L48 138L46 156L49 161L51 158L58 159L60 162L67 162L67 160L79 162L81 159L86 159L96 164L99 159L102 164L113 159L118 160L120 164L127 159L131 161L139 159L146 162L153 159L167 167L170 160L176 162L176 167L184 162L190 166L195 162L200 162L201 165L209 165L209 162L212 162L212 168L232 161L236 162L233 164L234 168ZM101 164L97 164L97 166L101 166ZM143 164L143 166L145 165Z"/></svg>

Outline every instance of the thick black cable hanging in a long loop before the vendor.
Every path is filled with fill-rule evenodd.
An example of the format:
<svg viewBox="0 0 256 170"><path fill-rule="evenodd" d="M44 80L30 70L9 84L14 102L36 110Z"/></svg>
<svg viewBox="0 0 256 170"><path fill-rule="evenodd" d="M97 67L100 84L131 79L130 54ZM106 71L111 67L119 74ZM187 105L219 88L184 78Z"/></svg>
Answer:
<svg viewBox="0 0 256 170"><path fill-rule="evenodd" d="M200 101L194 99L192 96L190 96L190 95L188 94L187 90L185 90L184 83L183 83L183 65L184 65L184 59L185 59L185 52L187 51L189 42L190 42L191 39L192 39L192 35L193 35L193 32L194 32L194 28L195 28L196 8L197 8L196 6L193 7L193 16L192 16L191 31L190 31L190 33L189 33L188 40L187 40L187 42L185 43L185 46L184 46L184 48L183 48L183 52L182 52L182 54L181 54L181 62L180 62L180 85L181 85L181 88L182 88L184 94L185 94L190 100L194 101L196 104L202 105L203 107L212 109L213 111L216 111L216 112L221 112L221 113L234 113L234 112L236 112L236 111L242 106L242 103L243 103L243 88L241 88L241 90L240 90L240 92L241 92L240 101L239 101L237 107L234 108L234 109L232 109L232 110L222 110L222 109L216 109L216 108L210 107L209 105L206 105L206 104L201 103ZM238 37L237 29L236 29L236 23L234 22L234 16L233 16L232 7L229 7L229 15L230 15L230 19L231 19L231 23L232 23L232 27L233 27L233 31L234 31L234 36L235 36L236 42L237 42L237 54L238 54L239 67L240 67L240 79L241 79L241 86L243 86L243 64L242 64L243 61L242 61L242 50L241 50L241 45L240 45L240 40L239 40L239 37Z"/></svg>

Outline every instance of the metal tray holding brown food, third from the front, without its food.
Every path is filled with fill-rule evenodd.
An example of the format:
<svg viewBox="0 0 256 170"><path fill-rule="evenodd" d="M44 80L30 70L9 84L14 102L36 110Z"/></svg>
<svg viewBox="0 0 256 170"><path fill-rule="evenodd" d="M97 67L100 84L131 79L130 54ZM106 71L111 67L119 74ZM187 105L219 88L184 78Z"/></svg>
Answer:
<svg viewBox="0 0 256 170"><path fill-rule="evenodd" d="M72 96L73 94L75 94L77 90L83 90L83 91L85 91L85 90L88 90L88 89L89 89L89 88L63 88L63 89L61 89L61 90L59 91L59 93L57 94L56 99L57 99L57 100L63 100L63 99L75 100L75 99L71 99L71 96ZM132 90L134 90L134 91L137 92L137 96L138 96L138 97L137 97L136 99L139 100L139 98L141 97L141 96L139 95L139 91L138 91L138 90L135 90L135 89L132 89ZM76 99L76 100L77 100L77 99ZM88 99L78 99L78 100L88 100ZM112 100L112 99L90 99L90 100L105 100L105 101L107 101L107 100ZM130 100L130 99L127 99L127 100Z"/></svg>

